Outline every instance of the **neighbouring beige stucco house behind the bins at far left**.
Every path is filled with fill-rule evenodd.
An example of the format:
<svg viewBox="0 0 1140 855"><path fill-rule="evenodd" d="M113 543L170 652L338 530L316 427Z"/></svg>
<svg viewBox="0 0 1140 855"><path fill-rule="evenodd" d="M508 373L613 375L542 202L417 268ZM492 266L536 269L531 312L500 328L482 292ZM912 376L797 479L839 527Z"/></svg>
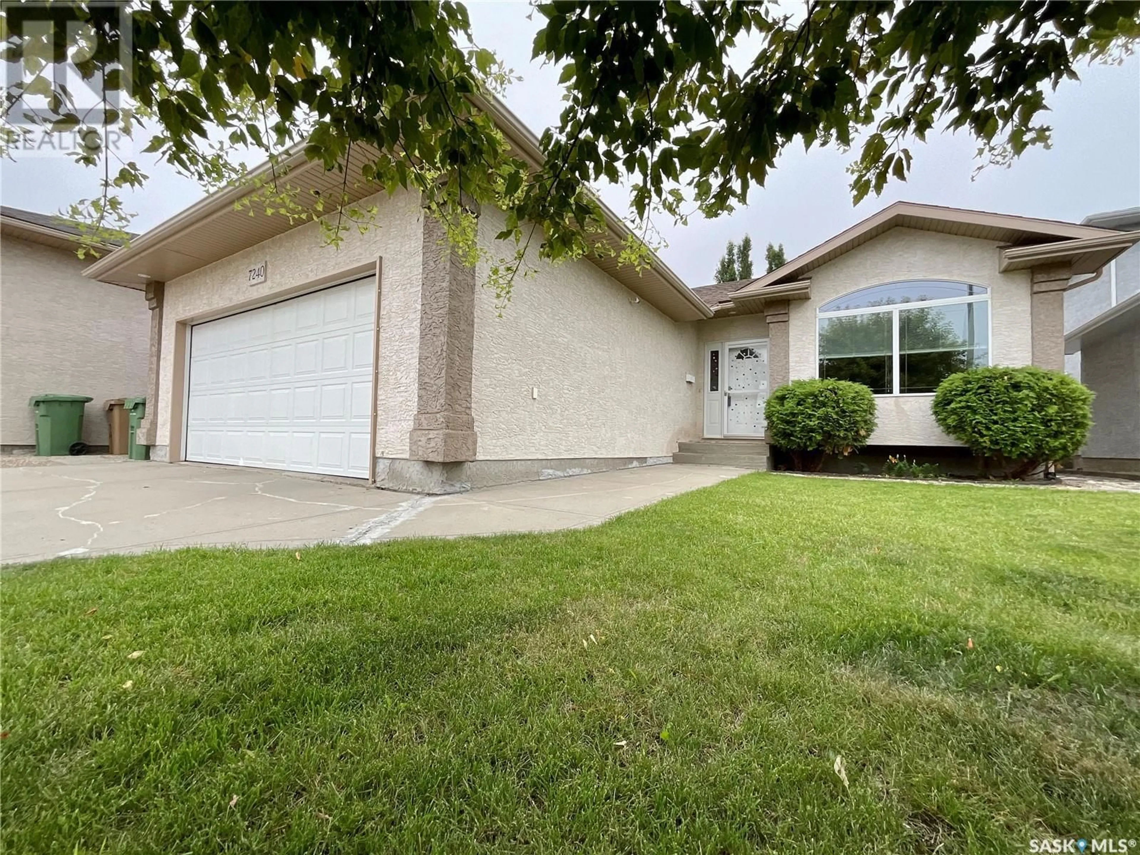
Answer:
<svg viewBox="0 0 1140 855"><path fill-rule="evenodd" d="M128 287L83 276L76 231L54 217L0 209L0 448L35 448L34 394L93 398L83 441L107 446L108 398L147 386L150 312L141 283ZM114 247L106 246L106 252Z"/></svg>

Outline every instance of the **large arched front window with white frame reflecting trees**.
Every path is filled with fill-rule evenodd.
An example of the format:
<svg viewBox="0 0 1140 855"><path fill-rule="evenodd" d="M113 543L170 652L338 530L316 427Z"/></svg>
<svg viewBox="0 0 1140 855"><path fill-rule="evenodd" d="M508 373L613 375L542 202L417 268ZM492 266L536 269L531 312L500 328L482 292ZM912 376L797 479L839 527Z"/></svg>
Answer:
<svg viewBox="0 0 1140 855"><path fill-rule="evenodd" d="M876 394L934 392L955 372L990 365L990 293L937 279L894 282L820 308L820 376Z"/></svg>

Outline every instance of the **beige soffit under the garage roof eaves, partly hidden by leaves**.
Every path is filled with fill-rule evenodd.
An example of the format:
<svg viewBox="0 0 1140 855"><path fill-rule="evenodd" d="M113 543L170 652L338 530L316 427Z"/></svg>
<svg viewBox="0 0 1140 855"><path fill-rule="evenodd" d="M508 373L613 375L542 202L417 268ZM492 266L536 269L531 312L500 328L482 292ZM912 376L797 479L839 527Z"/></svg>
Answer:
<svg viewBox="0 0 1140 855"><path fill-rule="evenodd" d="M494 117L520 155L534 163L542 162L538 138L500 101L489 96L474 97L473 101ZM301 190L299 202L310 206L319 195L337 197L342 187L350 201L355 202L378 189L360 179L361 168L374 154L365 147L356 147L349 158L348 180L343 172L325 171L319 162L308 161L300 149L278 163L276 169L263 164L251 176L264 180L276 173L277 180L288 181L298 187ZM247 210L235 210L234 204L249 193L251 190L247 187L219 190L136 238L129 246L97 261L84 275L132 287L140 287L140 283L145 284L150 279L169 282L293 228L288 219L280 214L266 215L255 211L251 217ZM620 251L627 236L633 233L604 204L602 211L609 226L604 241ZM589 260L674 320L712 317L712 310L657 255L651 258L649 269L641 272L629 264L619 264L614 256L597 255Z"/></svg>

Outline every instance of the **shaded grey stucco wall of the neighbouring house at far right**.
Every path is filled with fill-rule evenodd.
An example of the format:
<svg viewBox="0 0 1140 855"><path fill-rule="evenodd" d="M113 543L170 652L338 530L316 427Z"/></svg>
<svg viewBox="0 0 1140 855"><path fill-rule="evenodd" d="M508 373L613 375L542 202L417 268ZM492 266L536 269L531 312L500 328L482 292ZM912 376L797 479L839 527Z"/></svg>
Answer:
<svg viewBox="0 0 1140 855"><path fill-rule="evenodd" d="M1085 336L1081 378L1097 397L1084 457L1140 459L1140 324Z"/></svg>

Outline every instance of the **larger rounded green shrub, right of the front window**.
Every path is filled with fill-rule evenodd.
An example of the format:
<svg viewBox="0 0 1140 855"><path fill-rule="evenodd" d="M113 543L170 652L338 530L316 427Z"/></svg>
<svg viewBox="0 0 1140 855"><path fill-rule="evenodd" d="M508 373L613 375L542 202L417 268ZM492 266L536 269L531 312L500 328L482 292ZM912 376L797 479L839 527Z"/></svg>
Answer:
<svg viewBox="0 0 1140 855"><path fill-rule="evenodd" d="M1043 368L971 368L951 374L934 396L934 417L986 466L1008 478L1076 454L1092 426L1092 392Z"/></svg>

